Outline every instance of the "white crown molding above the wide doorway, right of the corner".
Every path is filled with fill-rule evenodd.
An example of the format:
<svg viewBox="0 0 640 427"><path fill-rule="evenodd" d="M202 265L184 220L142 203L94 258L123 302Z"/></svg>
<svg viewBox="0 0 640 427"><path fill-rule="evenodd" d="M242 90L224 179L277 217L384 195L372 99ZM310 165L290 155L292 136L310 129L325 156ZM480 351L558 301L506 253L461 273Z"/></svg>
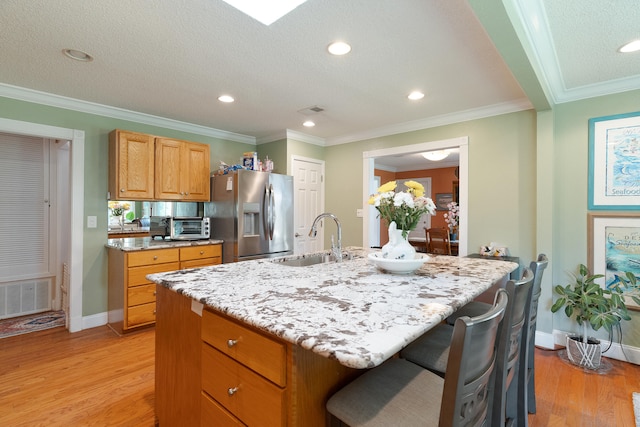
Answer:
<svg viewBox="0 0 640 427"><path fill-rule="evenodd" d="M441 116L434 116L428 119L398 123L395 125L371 129L351 135L327 138L326 145L329 146L348 144L355 141L364 141L366 139L381 138L384 136L429 129L437 126L446 126L455 123L467 122L470 120L484 119L486 117L499 116L501 114L515 113L518 111L530 110L531 108L533 108L531 102L529 102L529 100L526 98L522 98L515 102L504 102L501 104L489 105L487 107L460 111L454 114L443 114Z"/></svg>

